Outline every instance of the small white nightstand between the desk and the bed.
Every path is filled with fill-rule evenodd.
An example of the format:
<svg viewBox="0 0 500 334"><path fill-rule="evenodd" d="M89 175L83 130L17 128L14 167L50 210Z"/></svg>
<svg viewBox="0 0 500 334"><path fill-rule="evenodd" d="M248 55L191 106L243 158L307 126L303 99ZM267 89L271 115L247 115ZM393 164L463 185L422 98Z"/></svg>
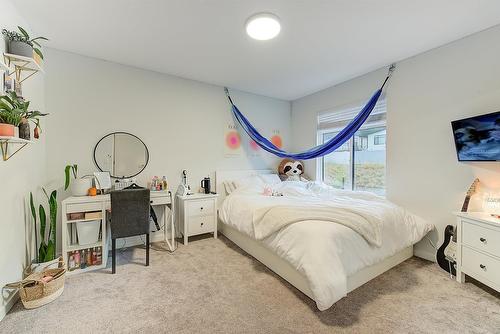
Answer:
<svg viewBox="0 0 500 334"><path fill-rule="evenodd" d="M217 194L177 196L179 230L184 237L213 233L217 238Z"/></svg>

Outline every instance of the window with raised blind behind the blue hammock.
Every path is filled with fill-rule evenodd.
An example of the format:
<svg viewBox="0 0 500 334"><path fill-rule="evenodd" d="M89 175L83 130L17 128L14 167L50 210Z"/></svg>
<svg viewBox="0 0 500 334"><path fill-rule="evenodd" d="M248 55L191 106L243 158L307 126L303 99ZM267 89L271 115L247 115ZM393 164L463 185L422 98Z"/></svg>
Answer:
<svg viewBox="0 0 500 334"><path fill-rule="evenodd" d="M363 106L345 108L318 117L318 142L335 137ZM320 158L318 178L338 189L385 195L386 105L381 99L368 120L334 152Z"/></svg>

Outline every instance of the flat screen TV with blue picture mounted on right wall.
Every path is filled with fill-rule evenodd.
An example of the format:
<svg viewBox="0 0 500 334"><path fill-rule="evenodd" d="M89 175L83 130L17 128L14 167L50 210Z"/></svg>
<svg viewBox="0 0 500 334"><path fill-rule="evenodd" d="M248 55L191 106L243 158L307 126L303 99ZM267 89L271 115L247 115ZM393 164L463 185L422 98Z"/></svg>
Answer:
<svg viewBox="0 0 500 334"><path fill-rule="evenodd" d="M500 111L451 122L459 161L500 161Z"/></svg>

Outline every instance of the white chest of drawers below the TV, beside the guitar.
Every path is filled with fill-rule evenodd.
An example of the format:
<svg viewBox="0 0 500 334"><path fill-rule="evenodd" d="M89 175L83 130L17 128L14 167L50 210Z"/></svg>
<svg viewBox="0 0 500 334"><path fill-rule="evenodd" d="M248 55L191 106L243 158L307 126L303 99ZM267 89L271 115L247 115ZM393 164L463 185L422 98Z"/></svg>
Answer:
<svg viewBox="0 0 500 334"><path fill-rule="evenodd" d="M500 291L500 219L460 212L457 221L457 281L469 275Z"/></svg>

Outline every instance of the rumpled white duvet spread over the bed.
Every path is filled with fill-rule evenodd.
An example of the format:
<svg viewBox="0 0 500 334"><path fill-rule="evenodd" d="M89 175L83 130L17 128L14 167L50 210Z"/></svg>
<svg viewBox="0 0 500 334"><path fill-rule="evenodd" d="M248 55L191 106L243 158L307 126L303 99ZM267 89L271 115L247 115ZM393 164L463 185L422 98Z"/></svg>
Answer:
<svg viewBox="0 0 500 334"><path fill-rule="evenodd" d="M283 193L277 197L264 196L265 186L263 182L240 186L224 200L220 218L240 232L262 239L256 237L254 223L262 222L263 213L273 207L309 207L311 215L301 216L306 220L283 224L261 242L307 278L319 310L328 309L347 294L347 276L415 244L433 229L371 193L336 190L315 182L282 182L273 185L273 190ZM368 243L354 229L331 219L307 219L314 217L312 210L318 206L361 208L377 222L380 243ZM290 209L287 214L293 216L294 212Z"/></svg>

